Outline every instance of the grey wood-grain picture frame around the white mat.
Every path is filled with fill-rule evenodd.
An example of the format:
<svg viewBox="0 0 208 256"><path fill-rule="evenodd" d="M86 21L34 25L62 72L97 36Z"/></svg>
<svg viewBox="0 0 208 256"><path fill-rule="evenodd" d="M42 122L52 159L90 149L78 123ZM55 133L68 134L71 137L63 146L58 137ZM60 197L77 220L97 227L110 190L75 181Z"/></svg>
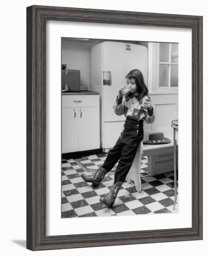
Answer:
<svg viewBox="0 0 208 256"><path fill-rule="evenodd" d="M46 21L192 29L192 227L46 236ZM202 239L202 17L69 7L27 7L27 242L30 250Z"/></svg>

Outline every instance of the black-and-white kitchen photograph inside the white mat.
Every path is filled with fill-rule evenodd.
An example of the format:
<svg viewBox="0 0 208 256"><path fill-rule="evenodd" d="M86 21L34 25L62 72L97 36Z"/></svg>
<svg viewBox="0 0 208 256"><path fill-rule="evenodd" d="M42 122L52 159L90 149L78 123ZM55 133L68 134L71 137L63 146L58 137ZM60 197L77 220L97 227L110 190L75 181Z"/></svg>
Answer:
<svg viewBox="0 0 208 256"><path fill-rule="evenodd" d="M178 43L61 38L61 217L179 212Z"/></svg>

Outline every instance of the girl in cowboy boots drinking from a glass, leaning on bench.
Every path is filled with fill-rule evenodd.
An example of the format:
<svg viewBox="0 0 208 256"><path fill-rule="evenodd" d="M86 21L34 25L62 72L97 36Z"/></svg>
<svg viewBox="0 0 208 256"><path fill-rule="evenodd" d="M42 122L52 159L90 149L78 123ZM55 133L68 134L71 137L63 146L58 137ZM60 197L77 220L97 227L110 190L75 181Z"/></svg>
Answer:
<svg viewBox="0 0 208 256"><path fill-rule="evenodd" d="M100 198L100 202L111 208L116 200L119 189L130 170L136 155L136 149L143 140L143 123L152 123L155 114L148 96L148 88L144 84L143 74L138 69L131 70L126 75L127 88L120 88L113 108L116 115L125 115L126 120L115 146L110 149L102 167L94 175L81 174L86 182L92 182L97 187L106 173L118 162L114 183L110 192ZM122 103L123 96L125 101Z"/></svg>

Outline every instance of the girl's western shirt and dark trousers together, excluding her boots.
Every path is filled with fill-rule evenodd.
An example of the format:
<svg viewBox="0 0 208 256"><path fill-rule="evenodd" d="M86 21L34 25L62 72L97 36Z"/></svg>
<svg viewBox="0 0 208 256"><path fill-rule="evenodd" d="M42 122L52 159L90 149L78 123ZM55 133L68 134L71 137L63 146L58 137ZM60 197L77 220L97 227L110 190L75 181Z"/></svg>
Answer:
<svg viewBox="0 0 208 256"><path fill-rule="evenodd" d="M114 112L116 115L125 115L126 120L115 146L110 149L103 168L109 172L118 162L115 172L115 183L124 182L136 155L136 149L140 141L143 141L143 123L154 122L155 114L142 107L143 98L137 99L138 94L116 98ZM148 96L149 97L149 96ZM150 97L149 97L150 100Z"/></svg>

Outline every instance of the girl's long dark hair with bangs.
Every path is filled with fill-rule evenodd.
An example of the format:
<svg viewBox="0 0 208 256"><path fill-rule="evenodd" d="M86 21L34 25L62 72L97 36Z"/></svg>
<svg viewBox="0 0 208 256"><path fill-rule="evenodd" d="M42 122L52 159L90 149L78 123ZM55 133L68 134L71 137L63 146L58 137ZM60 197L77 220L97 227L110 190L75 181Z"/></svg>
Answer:
<svg viewBox="0 0 208 256"><path fill-rule="evenodd" d="M139 94L136 98L137 100L143 98L144 95L148 95L149 91L147 86L144 83L143 74L139 69L132 69L127 75L126 78L134 78L136 82L136 92ZM128 93L128 98L133 96L133 93Z"/></svg>

